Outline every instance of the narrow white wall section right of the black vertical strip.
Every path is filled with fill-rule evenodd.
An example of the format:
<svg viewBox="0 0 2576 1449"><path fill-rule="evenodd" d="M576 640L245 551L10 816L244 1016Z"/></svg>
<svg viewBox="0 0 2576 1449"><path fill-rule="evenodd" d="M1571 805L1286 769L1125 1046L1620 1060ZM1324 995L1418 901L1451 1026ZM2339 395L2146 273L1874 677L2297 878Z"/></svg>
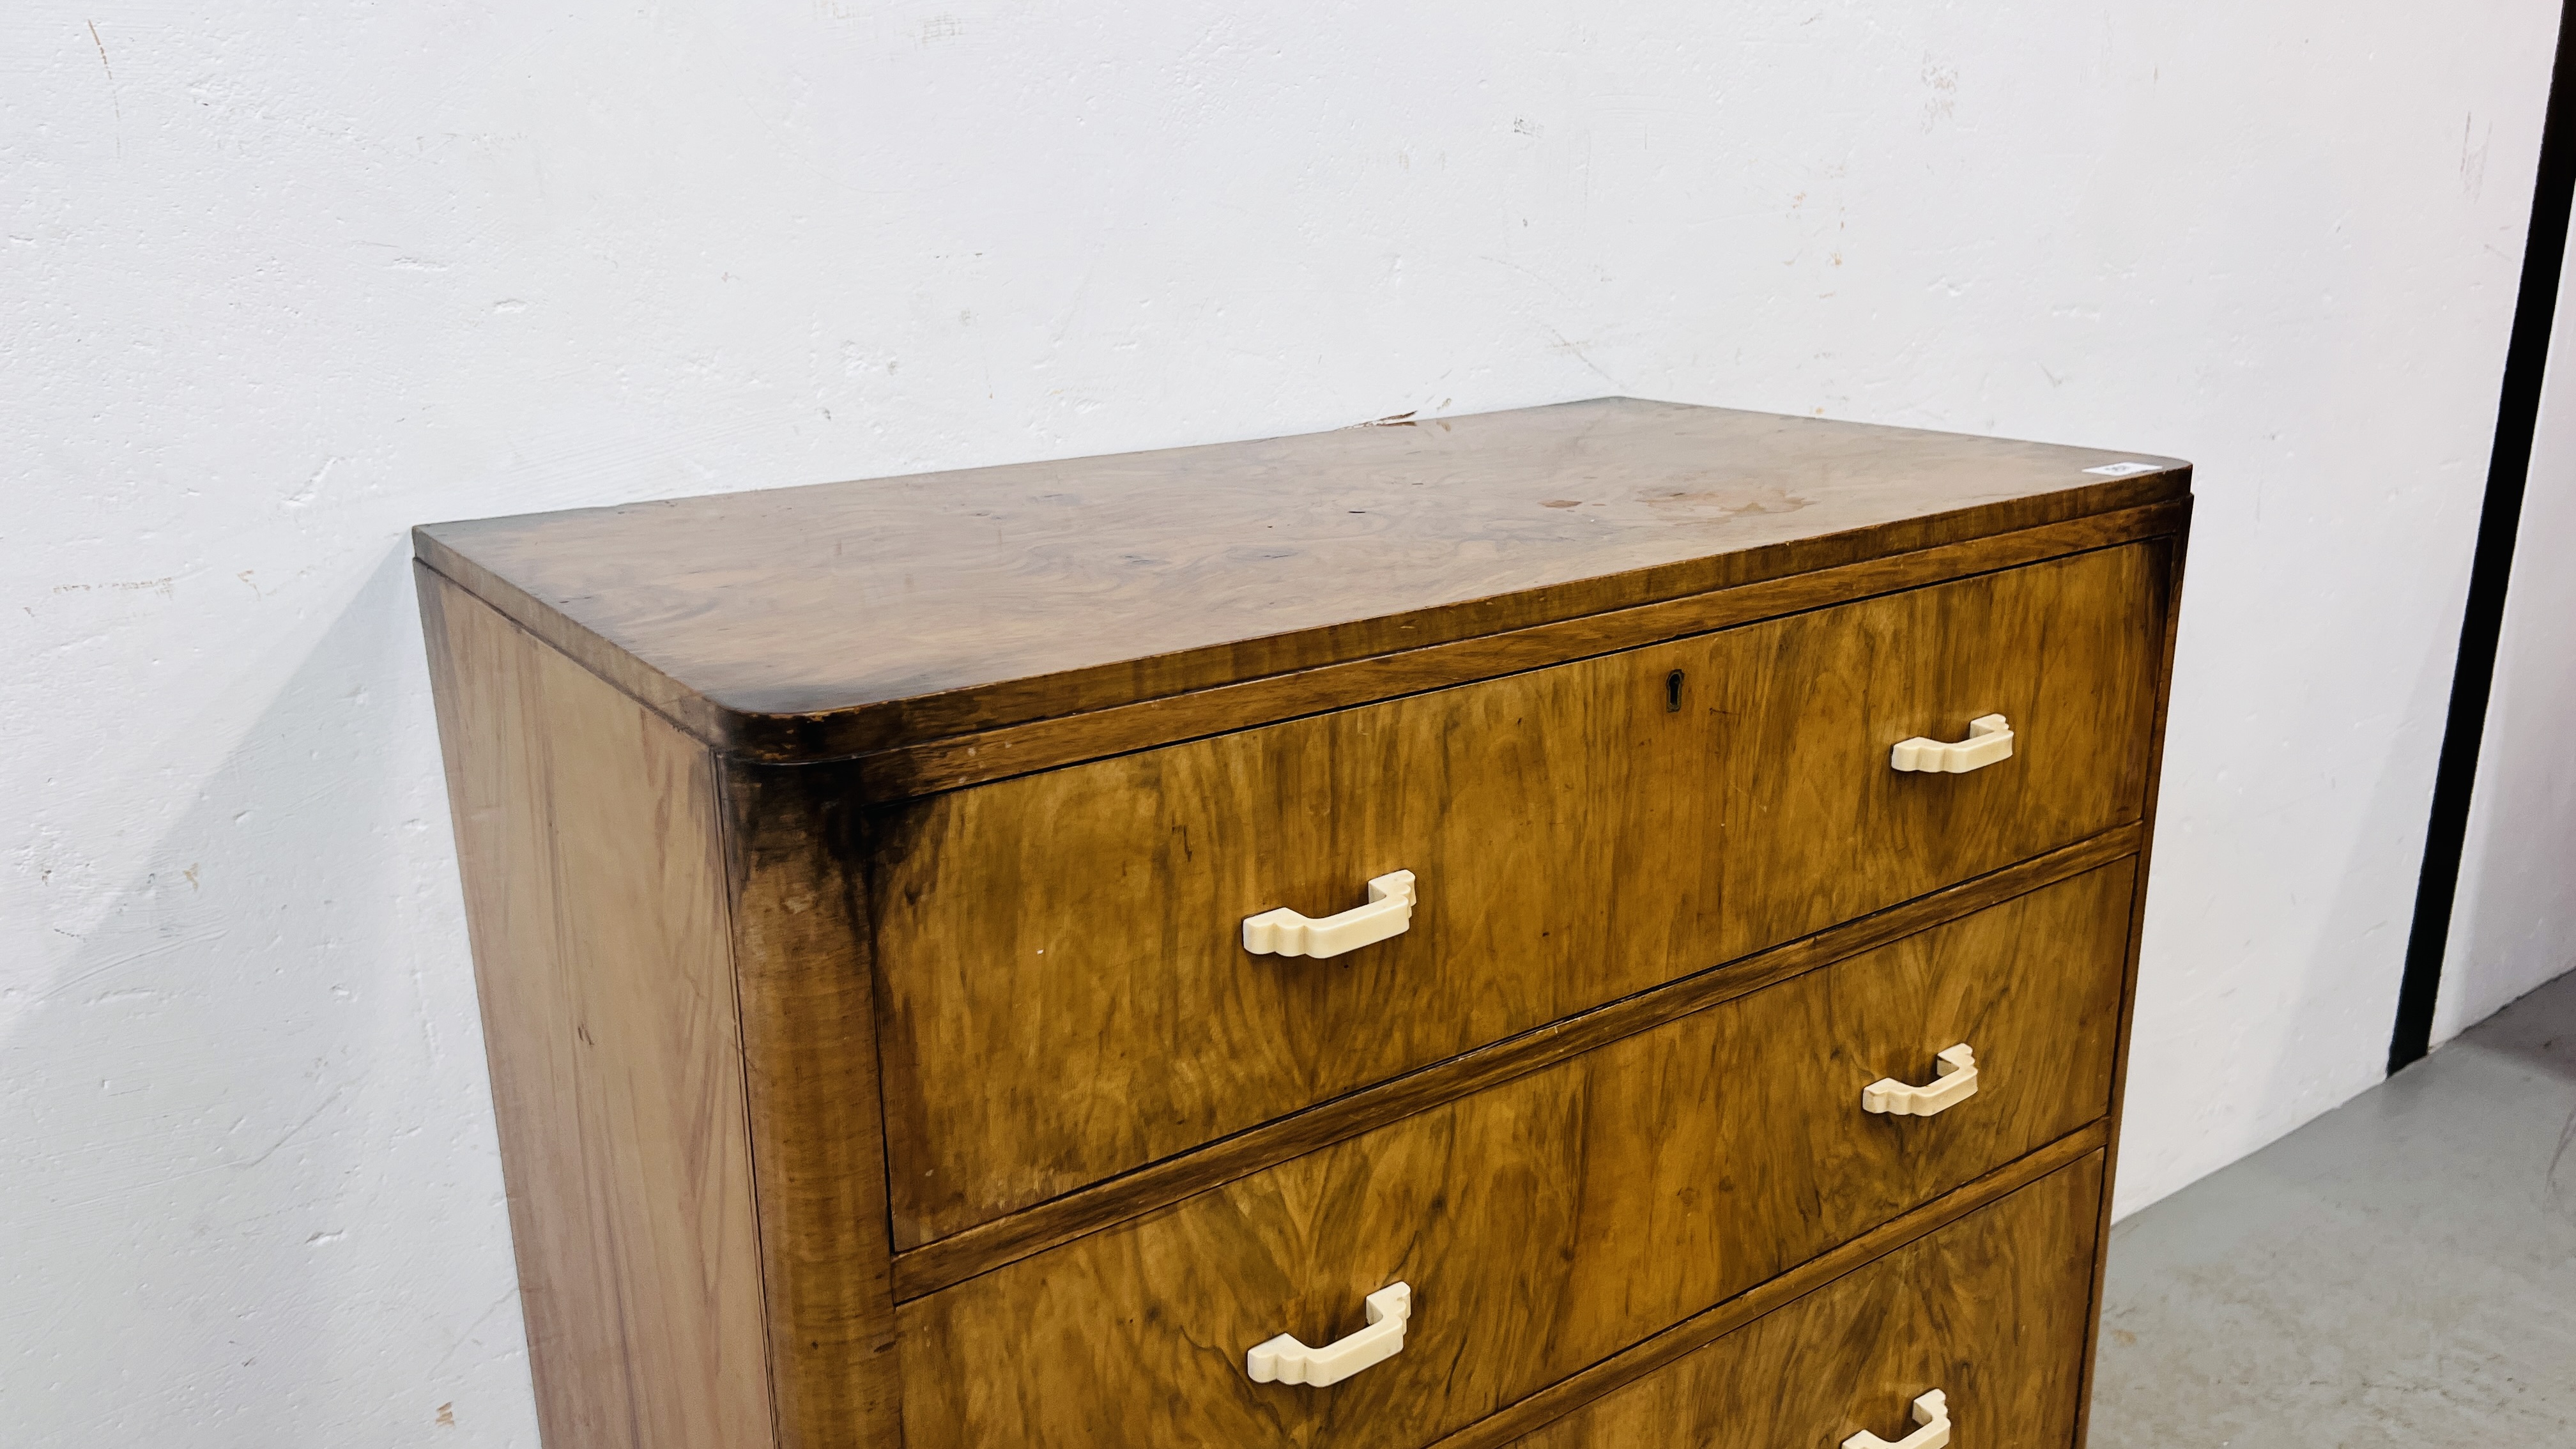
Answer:
<svg viewBox="0 0 2576 1449"><path fill-rule="evenodd" d="M2504 596L2496 688L2452 902L2434 1044L2576 969L2576 266L2558 284L2550 369Z"/></svg>

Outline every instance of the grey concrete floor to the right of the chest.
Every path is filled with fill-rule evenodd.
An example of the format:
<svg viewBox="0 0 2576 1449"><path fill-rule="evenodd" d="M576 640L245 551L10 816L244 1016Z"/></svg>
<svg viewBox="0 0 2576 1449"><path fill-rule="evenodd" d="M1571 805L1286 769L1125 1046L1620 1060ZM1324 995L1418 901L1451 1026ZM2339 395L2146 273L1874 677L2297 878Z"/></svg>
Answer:
<svg viewBox="0 0 2576 1449"><path fill-rule="evenodd" d="M2576 975L2110 1240L2094 1449L2576 1446Z"/></svg>

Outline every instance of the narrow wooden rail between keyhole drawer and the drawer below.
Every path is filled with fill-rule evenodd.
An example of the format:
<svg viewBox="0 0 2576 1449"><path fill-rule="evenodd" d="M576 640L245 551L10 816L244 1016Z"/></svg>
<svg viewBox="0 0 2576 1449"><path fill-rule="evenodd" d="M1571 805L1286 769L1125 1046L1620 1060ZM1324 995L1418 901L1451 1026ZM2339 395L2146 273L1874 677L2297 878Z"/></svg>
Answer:
<svg viewBox="0 0 2576 1449"><path fill-rule="evenodd" d="M1113 1227L1131 1217L1198 1196L1208 1189L1247 1178L1262 1168L1285 1163L1316 1147L1347 1142L1391 1122L1401 1122L1430 1106L1522 1078L1595 1047L1636 1036L1667 1021L1680 1021L1695 1011L1734 1000L1767 985L1806 975L1844 957L1873 951L1891 941L1914 936L1932 926L1973 915L2043 884L2056 884L2138 853L2138 828L2105 830L2092 841L2050 851L2002 871L1960 882L1950 890L1819 931L1803 941L1790 941L1759 951L1741 962L1713 967L1695 977L1631 995L1625 1000L1551 1021L1535 1031L1481 1047L1463 1057L1450 1057L1383 1083L1370 1083L1347 1096L1316 1104L1306 1111L1265 1122L1200 1150L1164 1158L1149 1168L1123 1173L1105 1183L1048 1199L1033 1209L979 1222L963 1232L896 1253L894 1297L914 1299L961 1284L976 1274L989 1274L1005 1263L1018 1263L1033 1253L1072 1243L1074 1238Z"/></svg>

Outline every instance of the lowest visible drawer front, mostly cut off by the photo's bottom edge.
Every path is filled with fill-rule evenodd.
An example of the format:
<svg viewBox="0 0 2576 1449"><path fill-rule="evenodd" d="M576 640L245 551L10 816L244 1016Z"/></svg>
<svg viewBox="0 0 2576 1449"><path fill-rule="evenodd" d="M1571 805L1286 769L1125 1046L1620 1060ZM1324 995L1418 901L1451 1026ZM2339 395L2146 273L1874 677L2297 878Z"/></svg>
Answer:
<svg viewBox="0 0 2576 1449"><path fill-rule="evenodd" d="M1904 1444L1929 1428L1914 1413L1927 1392L1953 1449L2066 1449L2099 1209L2092 1152L1512 1449Z"/></svg>

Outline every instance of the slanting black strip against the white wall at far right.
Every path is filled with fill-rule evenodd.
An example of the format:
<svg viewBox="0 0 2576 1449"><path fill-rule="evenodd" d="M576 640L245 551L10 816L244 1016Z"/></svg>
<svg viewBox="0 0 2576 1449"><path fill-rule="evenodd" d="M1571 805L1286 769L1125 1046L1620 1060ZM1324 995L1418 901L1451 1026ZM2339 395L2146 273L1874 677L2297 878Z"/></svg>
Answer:
<svg viewBox="0 0 2576 1449"><path fill-rule="evenodd" d="M2558 271L2568 255L2571 204L2576 204L2576 0L2566 0L2558 13L2558 59L2550 64L2550 101L2540 121L2540 175L2532 180L2532 235L2522 245L2514 335L2504 345L2496 449L2486 462L2478 552L2468 562L2460 663L2450 676L2450 719L2442 724L2442 763L2434 766L2432 820L2424 825L2424 874L2416 879L2416 915L2406 933L2398 1021L2388 1036L2391 1073L2419 1062L2432 1047L2432 1006L2442 995L2442 949L2450 944L2450 913L2460 895L2468 797L2478 784L2486 696L2496 683L2496 634L2504 632L2504 590L2514 572L2522 490L2532 472L2540 379L2550 361L2550 320L2558 315Z"/></svg>

